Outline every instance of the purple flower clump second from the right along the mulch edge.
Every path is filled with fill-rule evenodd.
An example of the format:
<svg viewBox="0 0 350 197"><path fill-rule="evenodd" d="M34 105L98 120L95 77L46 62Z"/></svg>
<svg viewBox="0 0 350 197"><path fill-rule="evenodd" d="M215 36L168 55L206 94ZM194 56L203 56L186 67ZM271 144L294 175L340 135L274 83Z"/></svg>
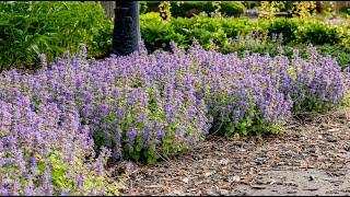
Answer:
<svg viewBox="0 0 350 197"><path fill-rule="evenodd" d="M246 68L246 59L236 54L207 51L196 43L187 56L199 76L197 96L208 105L213 132L280 131L269 128L291 115L292 101L278 91L271 76Z"/></svg>

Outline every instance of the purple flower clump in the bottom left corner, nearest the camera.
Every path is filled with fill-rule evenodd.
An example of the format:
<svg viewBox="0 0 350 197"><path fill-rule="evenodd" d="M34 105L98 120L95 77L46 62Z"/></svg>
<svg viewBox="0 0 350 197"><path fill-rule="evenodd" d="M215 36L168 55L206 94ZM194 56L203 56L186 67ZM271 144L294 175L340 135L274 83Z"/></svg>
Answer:
<svg viewBox="0 0 350 197"><path fill-rule="evenodd" d="M15 78L25 77L7 80ZM75 106L35 104L28 95L12 91L0 101L0 195L106 194L103 165L108 151L85 162L94 154L94 143ZM93 183L80 182L84 177Z"/></svg>

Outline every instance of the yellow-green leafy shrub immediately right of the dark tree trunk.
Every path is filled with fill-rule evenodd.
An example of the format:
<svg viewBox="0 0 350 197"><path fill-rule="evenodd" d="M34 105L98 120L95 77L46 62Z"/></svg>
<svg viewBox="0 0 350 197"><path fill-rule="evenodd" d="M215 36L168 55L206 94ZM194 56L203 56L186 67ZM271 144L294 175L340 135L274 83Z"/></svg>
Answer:
<svg viewBox="0 0 350 197"><path fill-rule="evenodd" d="M154 14L153 14L154 15ZM155 16L141 15L141 36L149 50L167 48L170 40L174 40L180 47L188 47L194 38L207 49L214 43L219 47L228 44L229 37L235 37L245 27L248 20L240 19L237 23L230 23L224 19L211 19L206 15L197 15L191 19L177 18L172 21L162 21ZM248 31L247 31L248 32Z"/></svg>

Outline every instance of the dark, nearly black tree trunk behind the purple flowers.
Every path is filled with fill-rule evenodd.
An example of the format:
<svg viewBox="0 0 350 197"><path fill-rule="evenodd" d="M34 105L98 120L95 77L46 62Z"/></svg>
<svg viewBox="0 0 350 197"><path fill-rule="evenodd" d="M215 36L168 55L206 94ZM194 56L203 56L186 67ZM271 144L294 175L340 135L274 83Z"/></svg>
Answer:
<svg viewBox="0 0 350 197"><path fill-rule="evenodd" d="M139 50L140 15L138 1L116 1L113 50L117 56Z"/></svg>

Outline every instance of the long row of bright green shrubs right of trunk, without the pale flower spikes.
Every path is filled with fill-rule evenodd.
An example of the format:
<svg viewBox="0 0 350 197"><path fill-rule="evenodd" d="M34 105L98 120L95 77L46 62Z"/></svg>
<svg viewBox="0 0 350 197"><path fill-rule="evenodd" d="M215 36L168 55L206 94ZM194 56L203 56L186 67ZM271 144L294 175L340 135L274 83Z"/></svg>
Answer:
<svg viewBox="0 0 350 197"><path fill-rule="evenodd" d="M171 21L162 21L159 16L151 19L150 15L152 14L141 15L141 36L151 51L167 48L170 40L187 48L194 38L197 38L206 49L212 48L214 44L221 51L224 51L229 50L231 39L252 34L270 38L282 34L283 45L346 43L346 36L340 27L314 19L250 21L248 19L209 18L199 14L190 19L176 18ZM258 48L265 48L265 46ZM276 50L276 48L271 49Z"/></svg>

